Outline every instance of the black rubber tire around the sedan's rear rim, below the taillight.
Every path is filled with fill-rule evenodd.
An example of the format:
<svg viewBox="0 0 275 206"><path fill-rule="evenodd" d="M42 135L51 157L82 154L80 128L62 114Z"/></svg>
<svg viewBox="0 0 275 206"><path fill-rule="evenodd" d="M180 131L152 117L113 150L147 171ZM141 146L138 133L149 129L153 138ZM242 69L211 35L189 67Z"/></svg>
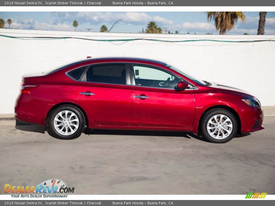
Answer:
<svg viewBox="0 0 275 206"><path fill-rule="evenodd" d="M62 112L64 110L68 110L73 112L74 114L76 114L79 123L78 123L78 128L77 130L70 135L62 135L60 133L58 133L56 131L56 129L54 128L54 118L55 116L59 113ZM78 138L81 133L83 132L85 127L85 117L82 113L81 110L79 110L77 107L71 106L71 105L62 105L59 106L57 108L55 108L50 114L49 114L49 121L48 121L48 126L47 126L47 131L48 134L50 134L50 136L54 137L54 138L58 138L58 139L75 139Z"/></svg>

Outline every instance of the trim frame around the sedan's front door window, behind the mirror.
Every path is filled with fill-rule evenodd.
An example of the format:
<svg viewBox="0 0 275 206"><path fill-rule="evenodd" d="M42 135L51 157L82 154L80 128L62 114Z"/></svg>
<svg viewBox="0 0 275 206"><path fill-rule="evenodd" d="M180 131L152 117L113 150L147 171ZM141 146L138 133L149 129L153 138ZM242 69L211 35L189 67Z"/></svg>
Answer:
<svg viewBox="0 0 275 206"><path fill-rule="evenodd" d="M182 77L178 76L177 74L174 74L173 72L170 72L169 70L166 70L164 68L160 68L158 66L153 66L153 65L150 65L150 64L140 64L140 63L130 63L130 74L131 74L131 86L136 86L136 87L144 87L144 88L156 88L156 89L166 89L166 90L175 90L175 89L171 89L171 88L161 88L161 87L149 87L149 86L137 86L135 85L135 75L134 75L134 68L133 68L133 65L136 65L136 66L147 66L149 68L152 68L152 69L158 69L160 71L163 71L163 72L166 72L168 74L171 74L173 76L176 76L178 77L180 80L184 80L186 82L188 82L193 88L192 89L185 89L185 90L198 90L199 88L197 86L195 86L194 84L190 83L189 81L183 79Z"/></svg>

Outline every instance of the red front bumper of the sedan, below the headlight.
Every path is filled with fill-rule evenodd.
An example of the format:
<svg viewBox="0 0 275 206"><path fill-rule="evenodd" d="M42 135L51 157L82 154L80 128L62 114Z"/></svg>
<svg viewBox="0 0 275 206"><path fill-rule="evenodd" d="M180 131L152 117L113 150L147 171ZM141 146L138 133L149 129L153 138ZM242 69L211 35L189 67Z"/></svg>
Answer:
<svg viewBox="0 0 275 206"><path fill-rule="evenodd" d="M261 108L247 106L242 110L241 118L241 133L256 132L264 129L262 126L264 120L264 112Z"/></svg>

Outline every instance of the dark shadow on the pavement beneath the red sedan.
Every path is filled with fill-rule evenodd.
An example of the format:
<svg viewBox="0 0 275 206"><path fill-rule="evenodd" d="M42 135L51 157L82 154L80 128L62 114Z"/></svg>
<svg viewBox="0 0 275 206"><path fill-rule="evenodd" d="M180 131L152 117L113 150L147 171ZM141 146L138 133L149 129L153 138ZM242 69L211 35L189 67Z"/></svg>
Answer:
<svg viewBox="0 0 275 206"><path fill-rule="evenodd" d="M16 121L15 125L16 129L28 132L37 132L44 134L46 132L46 128L40 125L32 125L26 124L23 122ZM92 134L102 134L102 135L128 135L128 136L167 136L167 137L184 137L184 138L194 138L197 140L201 140L207 142L205 138L202 136L193 134L192 132L174 132L174 131L148 131L148 130L103 130L103 129L84 129L84 134L92 135ZM235 138L248 136L250 133L237 134Z"/></svg>

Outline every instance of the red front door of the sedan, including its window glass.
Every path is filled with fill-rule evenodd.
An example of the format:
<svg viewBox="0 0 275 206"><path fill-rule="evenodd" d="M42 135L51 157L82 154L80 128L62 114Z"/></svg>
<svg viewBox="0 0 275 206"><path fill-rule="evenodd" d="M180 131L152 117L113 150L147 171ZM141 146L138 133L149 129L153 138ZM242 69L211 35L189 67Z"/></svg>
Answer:
<svg viewBox="0 0 275 206"><path fill-rule="evenodd" d="M182 79L177 75L145 64L131 64L132 118L130 126L190 128L195 113L191 85L176 90Z"/></svg>

